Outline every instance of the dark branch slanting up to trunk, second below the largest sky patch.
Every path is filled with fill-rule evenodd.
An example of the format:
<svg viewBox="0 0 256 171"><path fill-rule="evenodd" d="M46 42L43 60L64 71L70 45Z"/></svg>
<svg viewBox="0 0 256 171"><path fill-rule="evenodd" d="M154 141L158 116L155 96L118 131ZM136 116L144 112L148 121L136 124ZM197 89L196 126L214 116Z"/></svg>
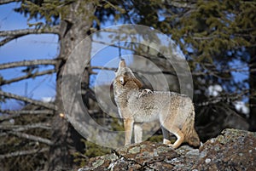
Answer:
<svg viewBox="0 0 256 171"><path fill-rule="evenodd" d="M19 81L27 79L27 78L44 76L44 75L52 74L52 73L55 73L55 69L54 70L47 70L47 71L40 71L40 72L36 72L36 73L28 73L25 76L15 77L15 78L9 79L9 80L2 80L2 81L0 80L0 86L2 86L4 84L19 82Z"/></svg>

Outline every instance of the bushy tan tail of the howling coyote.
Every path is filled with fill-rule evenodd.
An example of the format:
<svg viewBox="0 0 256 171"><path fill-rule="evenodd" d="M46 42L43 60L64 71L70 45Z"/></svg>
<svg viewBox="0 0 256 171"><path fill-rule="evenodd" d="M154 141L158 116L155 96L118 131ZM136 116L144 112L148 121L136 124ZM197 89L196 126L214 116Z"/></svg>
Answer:
<svg viewBox="0 0 256 171"><path fill-rule="evenodd" d="M191 111L190 116L187 118L186 122L183 125L182 132L185 135L185 142L188 142L189 145L197 147L200 145L200 139L198 134L195 131L194 123L195 123L195 110L193 107L193 110Z"/></svg>

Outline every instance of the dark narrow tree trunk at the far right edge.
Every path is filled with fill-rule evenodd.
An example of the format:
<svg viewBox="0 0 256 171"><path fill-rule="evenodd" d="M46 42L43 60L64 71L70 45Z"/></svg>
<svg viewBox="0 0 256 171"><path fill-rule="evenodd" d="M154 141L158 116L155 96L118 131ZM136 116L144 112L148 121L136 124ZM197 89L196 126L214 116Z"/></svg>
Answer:
<svg viewBox="0 0 256 171"><path fill-rule="evenodd" d="M256 50L249 49L251 61L249 63L249 87L250 87L250 131L256 131Z"/></svg>

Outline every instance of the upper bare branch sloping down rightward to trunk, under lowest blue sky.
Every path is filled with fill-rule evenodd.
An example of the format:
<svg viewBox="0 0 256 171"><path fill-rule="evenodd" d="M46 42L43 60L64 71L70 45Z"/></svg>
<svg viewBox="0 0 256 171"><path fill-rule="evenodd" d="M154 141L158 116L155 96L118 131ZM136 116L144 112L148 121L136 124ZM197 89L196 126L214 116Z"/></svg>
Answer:
<svg viewBox="0 0 256 171"><path fill-rule="evenodd" d="M23 96L20 96L20 95L11 94L11 93L7 93L7 92L3 92L3 91L0 91L0 95L3 95L4 97L7 97L7 98L15 99L15 100L26 101L26 102L31 103L33 105L40 105L40 106L43 106L43 107L48 108L48 109L57 110L56 105L53 105L53 104L50 104L50 103L44 103L44 102L39 101L39 100L32 100L32 99L29 99L29 98L26 98L26 97L23 97Z"/></svg>

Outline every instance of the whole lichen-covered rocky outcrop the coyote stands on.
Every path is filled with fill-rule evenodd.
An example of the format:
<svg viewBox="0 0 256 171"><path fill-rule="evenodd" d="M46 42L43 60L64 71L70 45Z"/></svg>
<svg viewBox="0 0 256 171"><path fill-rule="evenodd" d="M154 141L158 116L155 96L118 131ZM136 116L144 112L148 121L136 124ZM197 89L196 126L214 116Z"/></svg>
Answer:
<svg viewBox="0 0 256 171"><path fill-rule="evenodd" d="M256 133L224 129L217 138L199 149L145 141L113 150L112 154L90 158L79 171L87 170L255 170Z"/></svg>

